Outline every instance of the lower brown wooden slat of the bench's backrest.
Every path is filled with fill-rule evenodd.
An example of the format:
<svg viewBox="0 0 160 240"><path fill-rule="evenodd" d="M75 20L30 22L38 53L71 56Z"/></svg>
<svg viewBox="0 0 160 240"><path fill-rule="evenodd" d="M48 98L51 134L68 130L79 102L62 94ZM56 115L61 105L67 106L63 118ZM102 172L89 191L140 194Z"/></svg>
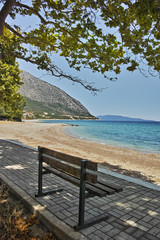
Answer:
<svg viewBox="0 0 160 240"><path fill-rule="evenodd" d="M80 178L80 167L72 165L72 164L66 164L64 161L50 157L43 154L43 162L50 165L52 168L56 168L60 171L65 172L66 174L70 174L74 177ZM97 174L90 171L86 173L86 180L91 183L97 183Z"/></svg>

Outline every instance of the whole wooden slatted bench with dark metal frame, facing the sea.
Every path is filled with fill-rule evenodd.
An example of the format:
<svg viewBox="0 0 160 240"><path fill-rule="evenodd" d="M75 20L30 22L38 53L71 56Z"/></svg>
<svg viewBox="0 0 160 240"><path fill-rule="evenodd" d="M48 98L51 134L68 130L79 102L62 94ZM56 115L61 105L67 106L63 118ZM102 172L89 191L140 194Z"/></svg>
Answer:
<svg viewBox="0 0 160 240"><path fill-rule="evenodd" d="M106 195L122 191L122 187L108 184L105 180L98 179L97 163L44 147L38 147L38 159L38 194L35 195L36 197L63 191L62 188L56 188L47 192L43 191L42 176L44 174L53 173L80 187L79 217L78 224L74 227L75 230L78 231L108 218L108 215L104 213L94 219L84 221L86 197L105 197ZM45 166L43 163L45 163Z"/></svg>

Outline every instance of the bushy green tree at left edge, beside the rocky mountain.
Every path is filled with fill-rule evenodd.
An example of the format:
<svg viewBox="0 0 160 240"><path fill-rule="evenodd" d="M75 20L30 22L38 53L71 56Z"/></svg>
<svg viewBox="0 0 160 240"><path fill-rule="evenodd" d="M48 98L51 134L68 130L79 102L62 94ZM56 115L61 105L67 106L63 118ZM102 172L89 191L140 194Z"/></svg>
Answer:
<svg viewBox="0 0 160 240"><path fill-rule="evenodd" d="M0 61L0 119L18 120L23 115L25 101L18 92L20 71L15 66Z"/></svg>

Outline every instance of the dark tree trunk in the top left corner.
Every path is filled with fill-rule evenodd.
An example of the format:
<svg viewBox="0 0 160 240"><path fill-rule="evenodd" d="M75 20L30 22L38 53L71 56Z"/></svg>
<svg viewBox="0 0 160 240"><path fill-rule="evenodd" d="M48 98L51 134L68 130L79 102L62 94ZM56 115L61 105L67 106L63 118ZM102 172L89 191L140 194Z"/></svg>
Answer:
<svg viewBox="0 0 160 240"><path fill-rule="evenodd" d="M3 34L3 27L5 24L6 17L11 12L12 7L16 5L16 0L6 0L1 11L0 11L0 35Z"/></svg>

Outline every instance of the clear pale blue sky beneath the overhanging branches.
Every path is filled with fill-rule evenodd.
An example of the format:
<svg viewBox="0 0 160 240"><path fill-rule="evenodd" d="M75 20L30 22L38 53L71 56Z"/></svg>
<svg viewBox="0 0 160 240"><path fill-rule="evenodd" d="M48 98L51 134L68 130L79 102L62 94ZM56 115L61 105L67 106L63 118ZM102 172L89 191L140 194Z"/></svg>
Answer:
<svg viewBox="0 0 160 240"><path fill-rule="evenodd" d="M14 24L13 20L9 18L7 18L7 22L11 25ZM21 23L23 29L27 29L36 24L36 19L32 17L26 20L21 17L21 19L16 18L16 23ZM96 87L105 89L97 96L93 96L78 84L73 85L72 82L65 79L59 81L48 75L42 77L45 72L37 70L35 65L22 60L18 62L22 70L61 88L79 100L95 116L123 115L160 121L160 79L158 77L148 75L148 78L145 78L138 70L131 73L123 69L118 75L118 80L110 82L101 74L94 74L86 69L82 69L80 72L70 69L65 60L57 55L53 56L53 60L65 72L88 82L95 82Z"/></svg>

